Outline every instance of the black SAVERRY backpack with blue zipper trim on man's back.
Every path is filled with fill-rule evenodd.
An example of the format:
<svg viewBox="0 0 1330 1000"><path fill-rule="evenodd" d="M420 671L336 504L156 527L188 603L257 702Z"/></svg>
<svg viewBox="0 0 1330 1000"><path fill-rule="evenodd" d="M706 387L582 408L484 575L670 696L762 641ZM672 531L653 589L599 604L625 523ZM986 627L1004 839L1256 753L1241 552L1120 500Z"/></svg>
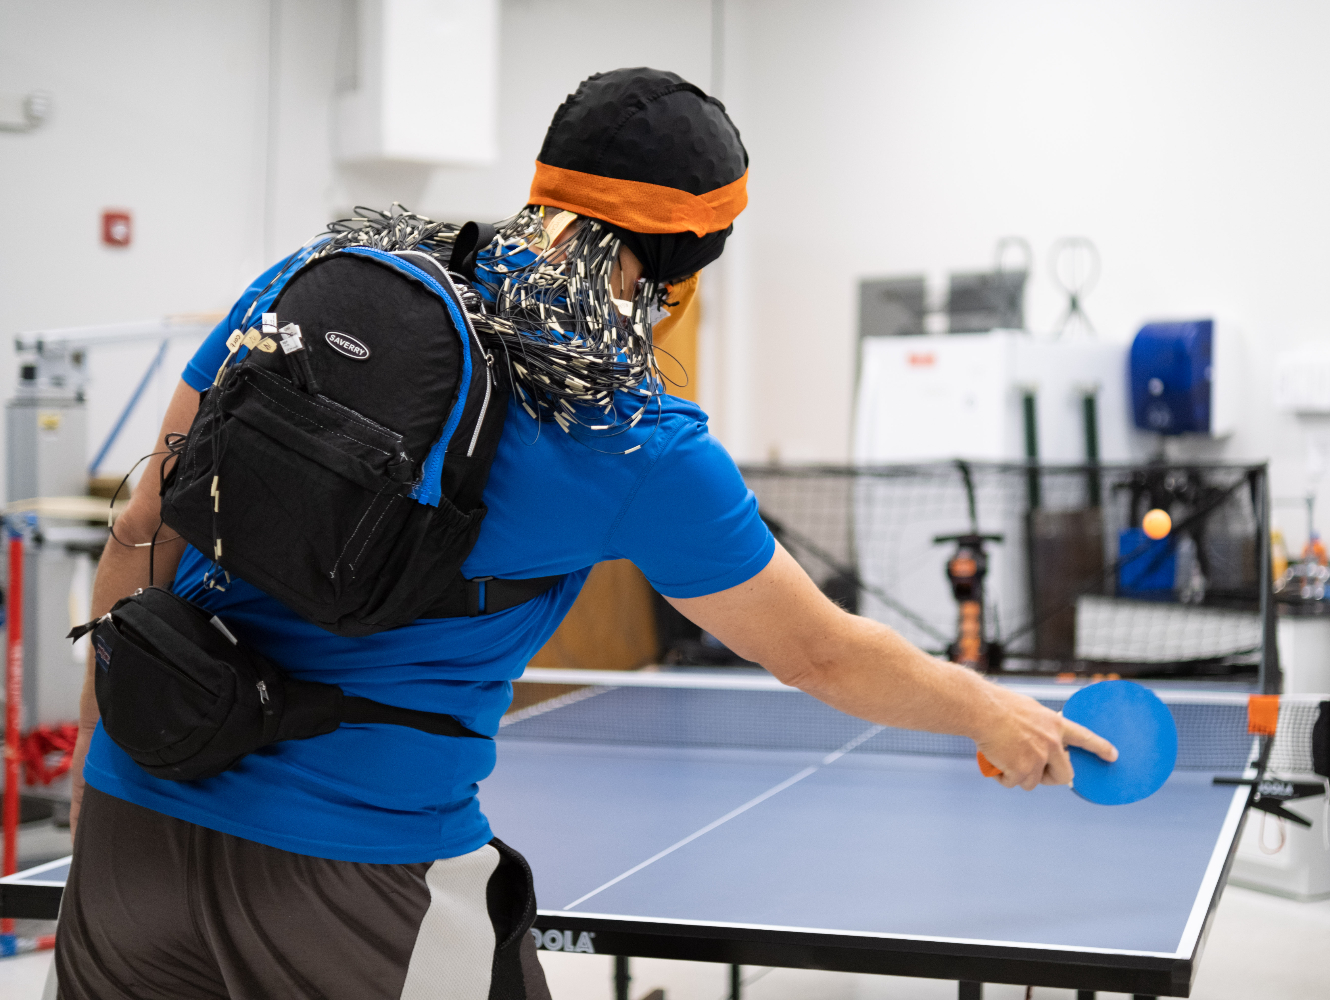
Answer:
<svg viewBox="0 0 1330 1000"><path fill-rule="evenodd" d="M553 586L561 577L459 573L509 388L450 274L424 253L356 246L279 281L173 445L162 520L339 636L503 610ZM209 580L225 586L223 573Z"/></svg>

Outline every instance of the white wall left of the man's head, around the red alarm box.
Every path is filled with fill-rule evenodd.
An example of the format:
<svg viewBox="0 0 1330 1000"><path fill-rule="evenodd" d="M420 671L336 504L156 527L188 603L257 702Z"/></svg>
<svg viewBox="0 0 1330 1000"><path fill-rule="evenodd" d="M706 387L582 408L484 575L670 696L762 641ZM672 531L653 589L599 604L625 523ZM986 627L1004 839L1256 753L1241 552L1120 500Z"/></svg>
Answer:
<svg viewBox="0 0 1330 1000"><path fill-rule="evenodd" d="M492 168L339 166L347 13L343 0L0 0L0 90L47 90L53 106L40 129L0 133L0 398L15 380L9 335L225 310L355 205L512 214L551 114L592 72L648 64L706 84L709 0L665 15L644 0L507 0ZM440 100L451 98L446 55ZM101 246L106 207L133 211L133 246ZM93 354L89 455L154 350ZM106 471L149 449L190 350L172 350Z"/></svg>

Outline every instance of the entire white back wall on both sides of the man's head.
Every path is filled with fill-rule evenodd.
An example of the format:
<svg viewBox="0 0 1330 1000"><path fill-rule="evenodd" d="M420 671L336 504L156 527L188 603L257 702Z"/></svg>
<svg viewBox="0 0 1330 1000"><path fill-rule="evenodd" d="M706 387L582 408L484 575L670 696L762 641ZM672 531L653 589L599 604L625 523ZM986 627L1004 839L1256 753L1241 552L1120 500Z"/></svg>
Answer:
<svg viewBox="0 0 1330 1000"><path fill-rule="evenodd" d="M1330 7L725 11L722 97L753 157L751 203L709 275L701 383L735 455L846 457L861 277L984 267L999 237L1023 234L1037 254L1028 315L1047 330L1063 305L1048 249L1083 234L1104 257L1085 303L1103 336L1212 314L1246 331L1248 419L1217 451L1273 456L1277 493L1305 491L1306 439L1269 406L1270 362L1325 335ZM0 89L53 98L37 132L0 133L0 334L225 309L356 203L500 218L523 203L545 124L585 74L648 64L710 82L710 0L504 0L499 161L339 168L343 16L331 0L0 0ZM98 243L113 206L134 211L128 250ZM96 428L150 348L102 354ZM12 383L5 347L0 395ZM145 449L169 391L154 387L110 468Z"/></svg>

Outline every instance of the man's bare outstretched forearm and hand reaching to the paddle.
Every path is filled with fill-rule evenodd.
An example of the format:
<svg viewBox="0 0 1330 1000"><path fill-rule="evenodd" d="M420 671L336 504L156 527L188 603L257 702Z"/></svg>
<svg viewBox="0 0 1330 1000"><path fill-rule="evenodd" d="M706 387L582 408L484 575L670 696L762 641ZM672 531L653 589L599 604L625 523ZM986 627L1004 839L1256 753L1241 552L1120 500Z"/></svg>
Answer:
<svg viewBox="0 0 1330 1000"><path fill-rule="evenodd" d="M886 625L829 601L779 544L766 569L729 590L669 598L739 656L851 715L970 737L1001 783L1067 785L1067 746L1115 759L1113 746L1032 698L936 660Z"/></svg>

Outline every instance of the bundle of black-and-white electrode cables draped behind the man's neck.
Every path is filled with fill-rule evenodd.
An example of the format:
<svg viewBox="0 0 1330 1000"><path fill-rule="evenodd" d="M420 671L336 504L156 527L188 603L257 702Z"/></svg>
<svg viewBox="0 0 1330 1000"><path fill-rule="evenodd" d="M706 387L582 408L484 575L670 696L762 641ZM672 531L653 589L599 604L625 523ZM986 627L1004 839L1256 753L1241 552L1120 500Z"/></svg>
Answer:
<svg viewBox="0 0 1330 1000"><path fill-rule="evenodd" d="M311 241L299 263L350 246L427 253L452 267L462 226L394 205L387 211L356 209L355 218L329 225ZM528 206L496 225L497 235L475 271L492 301L459 281L477 335L503 351L521 407L535 420L552 419L565 432L575 427L614 436L634 427L664 395L656 364L652 323L662 315L666 286L642 279L616 298L612 273L620 239L597 219L576 219L572 235L555 245L545 210ZM571 214L569 214L571 218ZM555 233L557 235L557 231ZM533 255L533 257L532 257ZM622 418L616 392L632 392L641 404ZM636 451L641 443L625 448Z"/></svg>

